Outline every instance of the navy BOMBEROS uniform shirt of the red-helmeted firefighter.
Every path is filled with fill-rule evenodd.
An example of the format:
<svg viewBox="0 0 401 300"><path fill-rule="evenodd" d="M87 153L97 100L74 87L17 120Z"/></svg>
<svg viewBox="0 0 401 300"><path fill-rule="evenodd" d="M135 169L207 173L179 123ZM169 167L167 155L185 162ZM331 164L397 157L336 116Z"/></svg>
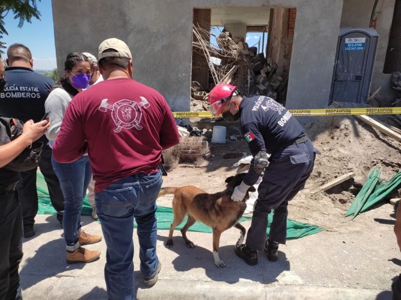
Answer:
<svg viewBox="0 0 401 300"><path fill-rule="evenodd" d="M266 96L243 97L240 120L241 131L254 157L261 150L273 154L306 135L303 126L291 112ZM244 181L252 185L258 177L258 174L250 171Z"/></svg>

